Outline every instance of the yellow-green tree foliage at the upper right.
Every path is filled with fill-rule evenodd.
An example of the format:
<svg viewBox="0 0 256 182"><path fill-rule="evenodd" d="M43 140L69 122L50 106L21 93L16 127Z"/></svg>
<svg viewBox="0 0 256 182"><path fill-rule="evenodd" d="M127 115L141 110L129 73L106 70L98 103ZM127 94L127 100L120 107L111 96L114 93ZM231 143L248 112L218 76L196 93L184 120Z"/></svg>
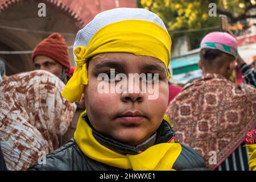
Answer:
<svg viewBox="0 0 256 182"><path fill-rule="evenodd" d="M218 16L208 15L208 6L211 2L216 3L217 10L231 13L232 16L245 13L246 7L251 6L251 2L246 0L137 0L137 5L159 15L166 24L172 40L183 35L189 36L193 49L199 47L205 34L219 31L219 28L207 28L219 25Z"/></svg>

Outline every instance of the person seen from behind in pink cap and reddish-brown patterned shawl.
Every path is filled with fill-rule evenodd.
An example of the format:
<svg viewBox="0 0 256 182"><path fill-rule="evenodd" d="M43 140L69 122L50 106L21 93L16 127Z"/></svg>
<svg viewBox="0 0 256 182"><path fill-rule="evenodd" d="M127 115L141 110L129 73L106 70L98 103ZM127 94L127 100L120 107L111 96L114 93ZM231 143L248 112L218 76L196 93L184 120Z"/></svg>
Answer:
<svg viewBox="0 0 256 182"><path fill-rule="evenodd" d="M176 140L199 151L209 169L249 169L242 142L256 125L256 89L230 81L240 59L237 40L226 32L212 32L200 46L203 77L185 85L167 109Z"/></svg>

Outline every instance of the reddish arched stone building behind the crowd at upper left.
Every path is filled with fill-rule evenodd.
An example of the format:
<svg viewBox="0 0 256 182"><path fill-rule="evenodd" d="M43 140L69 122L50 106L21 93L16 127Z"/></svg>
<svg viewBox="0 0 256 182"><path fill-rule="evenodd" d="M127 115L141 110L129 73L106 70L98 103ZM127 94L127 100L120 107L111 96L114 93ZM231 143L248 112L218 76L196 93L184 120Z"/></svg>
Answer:
<svg viewBox="0 0 256 182"><path fill-rule="evenodd" d="M38 4L42 2L46 4L46 17L38 16ZM64 33L68 46L72 46L77 31L94 15L115 7L136 7L136 1L0 0L0 51L31 51L49 32ZM72 54L71 48L73 64ZM6 61L7 75L33 69L31 53L0 56Z"/></svg>

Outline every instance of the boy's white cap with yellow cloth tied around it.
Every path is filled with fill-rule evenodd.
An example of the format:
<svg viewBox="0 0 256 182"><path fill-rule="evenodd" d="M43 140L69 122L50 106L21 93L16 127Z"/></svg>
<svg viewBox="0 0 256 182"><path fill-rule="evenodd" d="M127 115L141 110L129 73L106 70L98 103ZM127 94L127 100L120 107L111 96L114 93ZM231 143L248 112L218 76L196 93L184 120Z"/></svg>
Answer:
<svg viewBox="0 0 256 182"><path fill-rule="evenodd" d="M84 28L74 43L76 68L62 95L69 102L80 100L88 84L86 60L99 53L127 52L155 57L166 65L171 58L171 38L158 15L137 8L104 11Z"/></svg>

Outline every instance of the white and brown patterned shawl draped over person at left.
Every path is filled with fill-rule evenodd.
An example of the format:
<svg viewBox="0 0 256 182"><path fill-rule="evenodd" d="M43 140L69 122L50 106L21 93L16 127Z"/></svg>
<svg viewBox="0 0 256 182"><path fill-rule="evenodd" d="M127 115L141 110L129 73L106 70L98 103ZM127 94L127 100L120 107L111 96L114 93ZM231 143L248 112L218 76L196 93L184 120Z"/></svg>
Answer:
<svg viewBox="0 0 256 182"><path fill-rule="evenodd" d="M46 71L19 73L0 83L0 142L9 170L26 170L59 147L58 137L76 109L61 97L64 86Z"/></svg>

